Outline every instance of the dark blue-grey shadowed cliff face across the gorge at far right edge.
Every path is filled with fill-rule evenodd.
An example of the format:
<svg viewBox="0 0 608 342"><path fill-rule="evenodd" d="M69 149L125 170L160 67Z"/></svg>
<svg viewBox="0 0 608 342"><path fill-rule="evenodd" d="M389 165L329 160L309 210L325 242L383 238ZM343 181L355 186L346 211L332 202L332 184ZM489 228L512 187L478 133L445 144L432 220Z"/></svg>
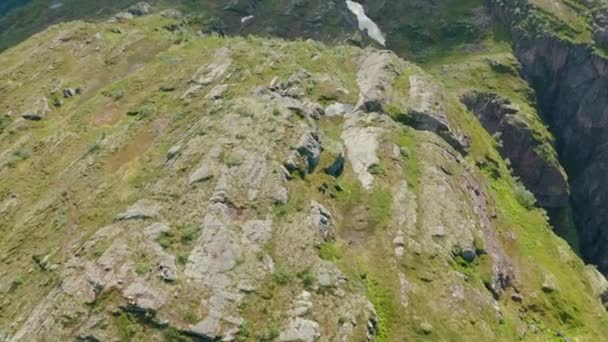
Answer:
<svg viewBox="0 0 608 342"><path fill-rule="evenodd" d="M550 33L529 32L518 24L534 10L517 1L491 2L495 15L511 25L514 49L523 73L536 90L541 112L557 140L568 173L575 220L586 260L608 273L608 199L606 161L606 91L608 60L585 44L573 44ZM601 15L598 14L598 18ZM598 22L603 23L602 20ZM596 38L603 29L598 27Z"/></svg>

